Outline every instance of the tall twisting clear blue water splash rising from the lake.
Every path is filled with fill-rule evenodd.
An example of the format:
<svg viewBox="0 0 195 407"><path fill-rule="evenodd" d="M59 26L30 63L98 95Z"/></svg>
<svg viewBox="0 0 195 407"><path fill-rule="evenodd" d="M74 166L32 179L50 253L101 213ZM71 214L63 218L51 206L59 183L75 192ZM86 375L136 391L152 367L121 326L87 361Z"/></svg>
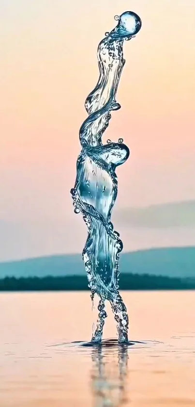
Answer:
<svg viewBox="0 0 195 407"><path fill-rule="evenodd" d="M117 18L118 17L118 18ZM116 167L129 157L129 148L120 138L118 143L102 135L108 127L111 111L120 109L116 92L123 59L123 42L130 40L141 28L141 20L127 11L115 16L117 26L105 33L98 46L100 76L96 87L85 102L89 116L80 128L82 150L77 159L75 187L71 189L75 213L81 212L88 227L88 239L83 249L91 298L97 293L99 318L91 342L101 342L105 323L105 300L110 301L117 321L119 342L128 342L128 315L119 294L119 254L122 242L110 222L118 191Z"/></svg>

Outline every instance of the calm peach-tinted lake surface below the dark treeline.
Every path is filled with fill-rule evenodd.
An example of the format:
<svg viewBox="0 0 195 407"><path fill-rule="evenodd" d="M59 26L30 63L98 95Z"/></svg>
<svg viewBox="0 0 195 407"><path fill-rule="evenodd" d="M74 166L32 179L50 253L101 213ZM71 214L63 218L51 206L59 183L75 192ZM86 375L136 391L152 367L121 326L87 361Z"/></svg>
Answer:
<svg viewBox="0 0 195 407"><path fill-rule="evenodd" d="M195 406L195 291L122 297L132 344L107 307L87 346L90 292L0 293L0 407Z"/></svg>

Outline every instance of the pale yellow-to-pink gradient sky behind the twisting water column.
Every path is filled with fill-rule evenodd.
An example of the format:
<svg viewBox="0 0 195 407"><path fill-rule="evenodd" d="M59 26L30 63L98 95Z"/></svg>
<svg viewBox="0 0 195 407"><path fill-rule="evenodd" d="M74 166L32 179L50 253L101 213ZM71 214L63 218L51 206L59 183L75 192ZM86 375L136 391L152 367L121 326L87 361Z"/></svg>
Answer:
<svg viewBox="0 0 195 407"><path fill-rule="evenodd" d="M64 252L83 247L85 225L69 192L78 131L98 80L98 43L116 25L114 16L129 9L143 25L124 44L121 109L104 135L122 137L131 149L118 169L116 207L195 199L195 1L1 0L0 221L16 225L19 234L29 225L36 243L45 239L43 254L62 251L62 242ZM52 236L48 245L41 225L61 223L70 236L66 229L61 245L55 239L52 245ZM0 259L4 251L6 259L16 257L6 230Z"/></svg>

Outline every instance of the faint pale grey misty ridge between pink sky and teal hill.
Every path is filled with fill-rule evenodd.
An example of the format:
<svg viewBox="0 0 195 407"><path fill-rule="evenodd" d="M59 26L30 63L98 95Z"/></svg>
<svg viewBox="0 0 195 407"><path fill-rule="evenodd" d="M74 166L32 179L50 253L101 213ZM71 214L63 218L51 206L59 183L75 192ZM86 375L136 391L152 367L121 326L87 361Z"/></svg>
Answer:
<svg viewBox="0 0 195 407"><path fill-rule="evenodd" d="M195 200L114 208L112 222L126 251L195 246ZM75 238L76 237L76 238ZM0 261L79 253L87 239L82 216L0 220Z"/></svg>

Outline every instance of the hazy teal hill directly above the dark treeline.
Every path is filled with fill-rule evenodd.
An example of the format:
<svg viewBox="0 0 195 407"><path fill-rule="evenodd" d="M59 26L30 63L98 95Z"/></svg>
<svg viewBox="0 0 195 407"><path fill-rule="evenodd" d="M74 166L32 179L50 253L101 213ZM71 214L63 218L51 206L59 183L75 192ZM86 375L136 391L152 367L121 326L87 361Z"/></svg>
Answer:
<svg viewBox="0 0 195 407"><path fill-rule="evenodd" d="M195 247L160 248L121 253L122 274L195 278ZM56 255L0 263L0 278L84 276L81 254Z"/></svg>

